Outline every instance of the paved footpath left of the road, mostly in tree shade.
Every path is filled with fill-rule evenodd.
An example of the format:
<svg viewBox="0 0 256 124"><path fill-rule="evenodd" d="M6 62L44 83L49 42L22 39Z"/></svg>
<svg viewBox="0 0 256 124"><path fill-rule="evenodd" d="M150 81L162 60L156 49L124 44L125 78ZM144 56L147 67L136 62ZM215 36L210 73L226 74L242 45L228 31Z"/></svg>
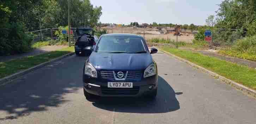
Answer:
<svg viewBox="0 0 256 124"><path fill-rule="evenodd" d="M64 45L44 46L41 48L34 49L31 52L27 52L27 53L16 54L12 56L0 56L0 62L6 62L12 59L19 59L19 58L28 57L28 56L35 56L38 54L59 50L65 47L68 47L68 46L64 46Z"/></svg>

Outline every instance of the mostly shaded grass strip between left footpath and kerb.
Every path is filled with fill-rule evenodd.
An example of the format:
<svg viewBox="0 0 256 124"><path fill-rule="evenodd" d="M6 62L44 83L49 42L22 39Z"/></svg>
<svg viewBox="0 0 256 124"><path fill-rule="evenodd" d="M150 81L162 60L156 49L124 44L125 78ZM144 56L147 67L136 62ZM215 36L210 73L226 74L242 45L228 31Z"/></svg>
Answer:
<svg viewBox="0 0 256 124"><path fill-rule="evenodd" d="M28 69L36 65L39 65L46 61L55 59L57 57L61 57L71 52L74 52L74 47L62 48L57 51L51 51L51 52L39 54L36 56L29 56L21 59L2 62L0 63L0 78L9 76L11 74Z"/></svg>

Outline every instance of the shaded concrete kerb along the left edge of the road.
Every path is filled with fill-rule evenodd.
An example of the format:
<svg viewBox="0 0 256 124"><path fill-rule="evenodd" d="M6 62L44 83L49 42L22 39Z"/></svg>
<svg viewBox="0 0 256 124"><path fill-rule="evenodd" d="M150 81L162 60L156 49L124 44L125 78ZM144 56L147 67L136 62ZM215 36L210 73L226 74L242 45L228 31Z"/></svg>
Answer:
<svg viewBox="0 0 256 124"><path fill-rule="evenodd" d="M63 55L63 56L61 56L61 57L55 58L55 59L53 59L53 60L50 60L50 61L41 63L41 64L39 64L39 65L33 66L33 67L31 67L31 68L28 68L28 69L26 69L26 70L23 70L23 71L14 73L14 74L12 74L12 75L10 75L10 76L1 78L1 79L0 79L0 86L7 84L7 82L9 82L9 81L11 81L11 80L13 80L13 79L15 79L15 78L17 78L17 77L19 77L19 76L22 76L22 75L24 75L24 74L26 74L26 73L29 73L29 72L31 72L31 71L34 71L34 70L36 70L36 69L38 69L38 68L41 68L41 67L43 67L43 66L45 66L45 65L48 65L48 64L50 64L50 63L53 63L53 62L55 62L55 61L57 61L57 60L66 58L66 57L68 57L68 56L72 56L72 55L74 55L74 54L75 54L74 52L68 53L68 54L65 54L65 55Z"/></svg>

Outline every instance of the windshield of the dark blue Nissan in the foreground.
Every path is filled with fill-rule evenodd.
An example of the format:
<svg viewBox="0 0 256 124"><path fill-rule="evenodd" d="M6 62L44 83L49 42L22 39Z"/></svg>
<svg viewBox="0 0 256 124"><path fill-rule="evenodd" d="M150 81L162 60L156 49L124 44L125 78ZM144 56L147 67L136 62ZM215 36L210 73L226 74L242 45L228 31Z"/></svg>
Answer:
<svg viewBox="0 0 256 124"><path fill-rule="evenodd" d="M96 52L135 53L146 52L141 38L135 37L103 37Z"/></svg>

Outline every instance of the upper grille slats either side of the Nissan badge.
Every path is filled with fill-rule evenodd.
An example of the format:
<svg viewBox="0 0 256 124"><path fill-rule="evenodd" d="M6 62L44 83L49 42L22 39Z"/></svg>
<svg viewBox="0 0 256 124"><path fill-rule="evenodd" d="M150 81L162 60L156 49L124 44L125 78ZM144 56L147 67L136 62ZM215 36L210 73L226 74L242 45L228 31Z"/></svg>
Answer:
<svg viewBox="0 0 256 124"><path fill-rule="evenodd" d="M114 71L115 73L118 71ZM123 71L126 72L126 71ZM103 79L115 79L113 71L100 71L100 76ZM141 71L128 71L126 79L136 79L141 77Z"/></svg>

